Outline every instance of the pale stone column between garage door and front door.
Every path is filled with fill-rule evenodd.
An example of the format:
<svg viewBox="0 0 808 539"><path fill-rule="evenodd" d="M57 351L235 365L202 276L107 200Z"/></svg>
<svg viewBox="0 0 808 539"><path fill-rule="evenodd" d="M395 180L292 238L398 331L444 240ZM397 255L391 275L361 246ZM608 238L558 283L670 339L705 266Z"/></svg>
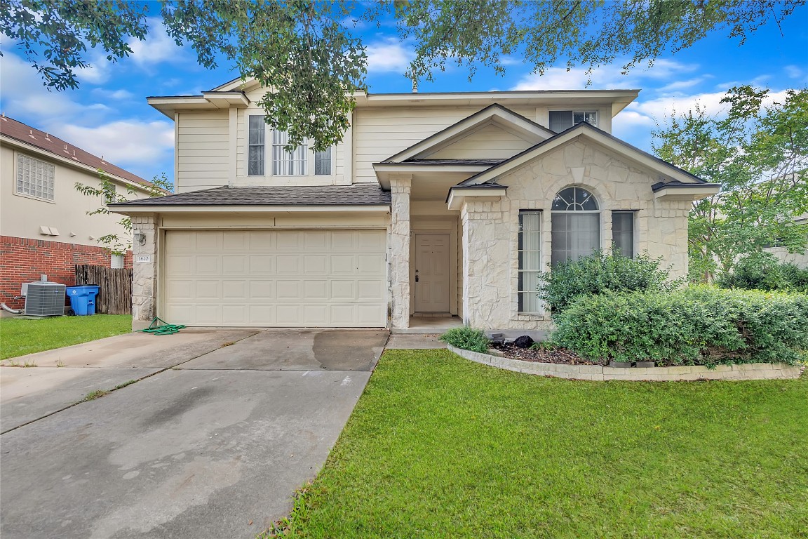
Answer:
<svg viewBox="0 0 808 539"><path fill-rule="evenodd" d="M393 327L410 326L410 190L412 176L390 179L390 294Z"/></svg>

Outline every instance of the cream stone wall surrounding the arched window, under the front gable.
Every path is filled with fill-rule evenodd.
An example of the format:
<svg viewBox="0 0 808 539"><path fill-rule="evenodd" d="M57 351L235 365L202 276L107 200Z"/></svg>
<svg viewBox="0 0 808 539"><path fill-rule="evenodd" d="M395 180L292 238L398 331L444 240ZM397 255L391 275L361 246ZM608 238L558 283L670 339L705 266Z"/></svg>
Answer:
<svg viewBox="0 0 808 539"><path fill-rule="evenodd" d="M576 182L573 170L583 177ZM463 320L483 329L545 330L549 315L519 314L518 238L519 212L542 210L541 265L552 256L551 204L556 194L570 186L587 189L598 200L600 247L612 244L610 210L635 210L634 243L638 253L663 257L671 278L688 272L688 200L661 201L651 185L659 179L617 158L599 145L580 141L553 149L499 177L507 186L500 200L468 197L461 207L463 246Z"/></svg>

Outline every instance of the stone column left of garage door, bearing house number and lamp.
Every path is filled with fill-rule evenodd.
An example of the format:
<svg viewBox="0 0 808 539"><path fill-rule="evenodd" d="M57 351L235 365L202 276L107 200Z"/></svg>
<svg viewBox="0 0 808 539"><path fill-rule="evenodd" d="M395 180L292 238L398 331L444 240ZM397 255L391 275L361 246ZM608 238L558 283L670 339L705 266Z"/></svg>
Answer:
<svg viewBox="0 0 808 539"><path fill-rule="evenodd" d="M157 217L132 217L132 228L145 234L143 245L132 242L132 329L137 331L149 326L157 312Z"/></svg>

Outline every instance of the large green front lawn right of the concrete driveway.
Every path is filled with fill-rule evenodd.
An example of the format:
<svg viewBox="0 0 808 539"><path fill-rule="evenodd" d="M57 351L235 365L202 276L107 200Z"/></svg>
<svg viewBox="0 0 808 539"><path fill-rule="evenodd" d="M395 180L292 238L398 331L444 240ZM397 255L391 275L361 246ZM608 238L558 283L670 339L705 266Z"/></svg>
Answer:
<svg viewBox="0 0 808 539"><path fill-rule="evenodd" d="M584 382L385 352L292 537L808 537L808 378Z"/></svg>

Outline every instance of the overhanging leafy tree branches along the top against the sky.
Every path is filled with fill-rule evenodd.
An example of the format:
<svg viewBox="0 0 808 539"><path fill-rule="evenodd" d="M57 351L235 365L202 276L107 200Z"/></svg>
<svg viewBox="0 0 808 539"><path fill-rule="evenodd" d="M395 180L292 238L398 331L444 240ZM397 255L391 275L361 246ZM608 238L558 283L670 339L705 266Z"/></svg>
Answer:
<svg viewBox="0 0 808 539"><path fill-rule="evenodd" d="M625 59L624 71L687 48L710 32L741 43L779 23L806 0L165 0L162 19L178 45L208 68L232 61L242 77L274 91L261 103L267 122L294 145L340 141L364 86L366 56L351 18L394 17L415 42L407 75L431 79L447 62L488 65L502 73L516 54L538 73L558 61L592 68ZM149 32L140 0L0 0L0 31L56 90L78 86L88 46L108 61L132 53L127 41ZM221 55L221 56L220 56Z"/></svg>

